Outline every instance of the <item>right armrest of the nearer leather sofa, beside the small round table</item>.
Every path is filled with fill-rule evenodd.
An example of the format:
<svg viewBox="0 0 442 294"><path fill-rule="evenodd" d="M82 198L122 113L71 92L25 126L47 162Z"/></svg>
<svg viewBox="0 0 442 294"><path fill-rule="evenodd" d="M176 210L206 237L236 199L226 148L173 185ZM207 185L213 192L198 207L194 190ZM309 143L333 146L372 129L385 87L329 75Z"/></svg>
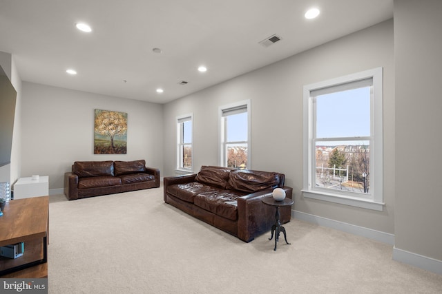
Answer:
<svg viewBox="0 0 442 294"><path fill-rule="evenodd" d="M293 188L282 187L286 197L292 199ZM238 238L245 242L253 240L258 233L264 233L275 222L275 209L262 203L262 198L271 196L273 189L265 189L238 197ZM281 222L289 222L291 207L282 207Z"/></svg>

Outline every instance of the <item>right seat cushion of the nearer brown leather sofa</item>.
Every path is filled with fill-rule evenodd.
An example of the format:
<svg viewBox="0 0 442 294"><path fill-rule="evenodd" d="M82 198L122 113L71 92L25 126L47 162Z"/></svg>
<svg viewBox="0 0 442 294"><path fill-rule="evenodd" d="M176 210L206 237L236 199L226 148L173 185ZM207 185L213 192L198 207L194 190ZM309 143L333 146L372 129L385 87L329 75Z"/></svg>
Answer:
<svg viewBox="0 0 442 294"><path fill-rule="evenodd" d="M198 194L195 196L193 203L206 211L215 213L217 216L229 220L238 220L237 199L239 196L240 194L227 190L211 191Z"/></svg>

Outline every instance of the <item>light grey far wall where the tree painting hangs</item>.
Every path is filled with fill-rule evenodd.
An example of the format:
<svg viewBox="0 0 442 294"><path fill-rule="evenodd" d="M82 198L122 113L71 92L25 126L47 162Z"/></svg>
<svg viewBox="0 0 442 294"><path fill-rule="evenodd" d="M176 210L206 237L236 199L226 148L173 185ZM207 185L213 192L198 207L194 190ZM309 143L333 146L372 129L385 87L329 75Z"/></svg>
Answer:
<svg viewBox="0 0 442 294"><path fill-rule="evenodd" d="M146 160L162 170L162 105L23 82L21 177L49 176L63 193L76 160ZM94 109L128 114L127 154L93 154Z"/></svg>

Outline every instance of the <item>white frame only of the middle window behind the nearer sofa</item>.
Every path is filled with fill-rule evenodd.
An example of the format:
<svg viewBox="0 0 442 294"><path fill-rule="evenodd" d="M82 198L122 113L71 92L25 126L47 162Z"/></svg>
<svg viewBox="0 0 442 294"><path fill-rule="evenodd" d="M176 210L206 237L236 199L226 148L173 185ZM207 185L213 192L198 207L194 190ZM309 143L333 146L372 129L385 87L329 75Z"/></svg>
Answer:
<svg viewBox="0 0 442 294"><path fill-rule="evenodd" d="M245 108L247 112L247 142L238 141L238 142L230 142L233 143L247 143L247 169L251 169L251 100L247 99L244 101L238 101L236 103L231 103L228 105L222 105L218 107L218 122L219 122L219 144L218 144L218 165L220 167L227 167L227 144L229 142L226 141L227 138L227 126L226 120L224 119L225 113L227 112L235 112L238 109Z"/></svg>

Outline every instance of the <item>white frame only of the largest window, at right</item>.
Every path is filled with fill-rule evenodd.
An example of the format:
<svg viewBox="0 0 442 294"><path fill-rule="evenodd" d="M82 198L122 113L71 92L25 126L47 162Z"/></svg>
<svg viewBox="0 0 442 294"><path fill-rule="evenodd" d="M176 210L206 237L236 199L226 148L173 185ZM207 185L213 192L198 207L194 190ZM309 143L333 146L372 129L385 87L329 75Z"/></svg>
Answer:
<svg viewBox="0 0 442 294"><path fill-rule="evenodd" d="M332 87L340 87L349 83L357 83L366 79L372 79L371 111L370 111L370 190L367 197L357 196L357 193L344 192L339 190L318 189L313 187L316 171L315 156L315 123L316 111L314 106L314 96L311 92L319 92ZM339 92L339 91L332 91ZM317 96L317 95L316 95ZM349 74L332 78L327 81L312 83L303 87L303 116L304 116L304 147L303 147L303 196L329 202L346 204L354 207L383 211L383 68L376 67L372 70L365 70L356 74ZM356 137L355 137L356 138ZM366 137L364 137L366 138ZM339 138L331 138L335 140Z"/></svg>

